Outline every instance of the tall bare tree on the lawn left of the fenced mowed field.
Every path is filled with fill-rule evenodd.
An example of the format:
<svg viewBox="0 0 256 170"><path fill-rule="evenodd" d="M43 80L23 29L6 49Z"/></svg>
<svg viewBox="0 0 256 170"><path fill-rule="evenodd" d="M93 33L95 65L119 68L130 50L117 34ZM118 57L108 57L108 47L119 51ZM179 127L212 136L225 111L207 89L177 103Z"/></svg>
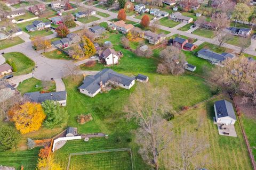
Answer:
<svg viewBox="0 0 256 170"><path fill-rule="evenodd" d="M159 124L164 123L161 115L171 110L170 92L167 87L155 87L150 83L139 84L130 96L129 104L124 109L129 117L137 118L140 123L141 129L138 133L144 133L144 136L141 138L147 140L147 142L141 143L141 156L145 160L151 160L148 163L154 165L156 169L158 169L157 158L159 152L162 151L163 147L165 148L165 142L171 138L171 135L162 137L160 135L162 133L159 131L161 131L161 128L164 128L164 126L159 126ZM167 126L169 125L166 124L165 127ZM157 134L158 132L159 134ZM137 139L141 141L139 137ZM159 143L159 141L162 141L162 143Z"/></svg>

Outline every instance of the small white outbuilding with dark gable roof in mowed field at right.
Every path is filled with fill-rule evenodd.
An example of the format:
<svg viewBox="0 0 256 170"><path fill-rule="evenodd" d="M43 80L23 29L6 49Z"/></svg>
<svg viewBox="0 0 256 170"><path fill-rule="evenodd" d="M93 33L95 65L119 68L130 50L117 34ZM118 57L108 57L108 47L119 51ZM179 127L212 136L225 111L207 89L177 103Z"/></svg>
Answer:
<svg viewBox="0 0 256 170"><path fill-rule="evenodd" d="M215 101L214 104L215 120L221 124L235 124L236 114L233 105L227 100Z"/></svg>

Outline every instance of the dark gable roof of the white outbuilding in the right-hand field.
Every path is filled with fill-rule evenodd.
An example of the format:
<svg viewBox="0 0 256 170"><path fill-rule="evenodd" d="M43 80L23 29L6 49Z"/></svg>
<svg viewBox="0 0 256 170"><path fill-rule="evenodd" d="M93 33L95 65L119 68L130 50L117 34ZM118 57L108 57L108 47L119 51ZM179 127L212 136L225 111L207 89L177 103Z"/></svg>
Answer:
<svg viewBox="0 0 256 170"><path fill-rule="evenodd" d="M227 100L215 101L215 108L217 116L219 117L231 117L236 120L235 111L233 105Z"/></svg>

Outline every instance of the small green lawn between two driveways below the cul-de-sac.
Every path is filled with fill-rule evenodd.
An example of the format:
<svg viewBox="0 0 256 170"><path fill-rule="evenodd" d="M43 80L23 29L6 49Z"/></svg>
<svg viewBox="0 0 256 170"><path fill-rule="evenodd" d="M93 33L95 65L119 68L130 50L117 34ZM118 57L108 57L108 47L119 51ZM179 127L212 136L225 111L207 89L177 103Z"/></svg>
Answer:
<svg viewBox="0 0 256 170"><path fill-rule="evenodd" d="M38 87L36 87L38 86ZM19 83L17 88L21 94L26 94L26 92L35 92L35 91L48 91L52 92L56 90L55 82L52 81L41 81L36 78L30 78Z"/></svg>

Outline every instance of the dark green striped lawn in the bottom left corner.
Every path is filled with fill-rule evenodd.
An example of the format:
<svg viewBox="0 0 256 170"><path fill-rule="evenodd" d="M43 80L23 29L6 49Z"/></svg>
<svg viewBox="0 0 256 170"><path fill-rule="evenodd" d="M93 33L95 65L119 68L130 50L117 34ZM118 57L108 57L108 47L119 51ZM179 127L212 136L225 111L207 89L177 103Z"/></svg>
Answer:
<svg viewBox="0 0 256 170"><path fill-rule="evenodd" d="M23 165L24 169L35 169L39 149L37 147L31 150L0 152L0 165L15 167L15 169L20 169Z"/></svg>

